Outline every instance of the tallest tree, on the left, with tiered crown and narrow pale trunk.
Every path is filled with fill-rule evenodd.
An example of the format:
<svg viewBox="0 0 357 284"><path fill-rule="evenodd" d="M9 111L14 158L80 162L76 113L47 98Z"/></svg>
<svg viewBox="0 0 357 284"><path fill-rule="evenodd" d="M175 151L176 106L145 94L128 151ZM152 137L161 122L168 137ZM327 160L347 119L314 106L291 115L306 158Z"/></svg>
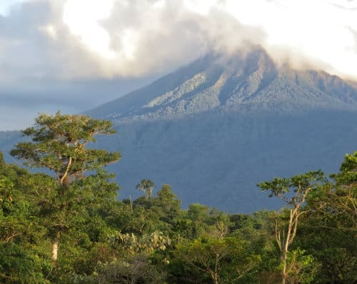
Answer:
<svg viewBox="0 0 357 284"><path fill-rule="evenodd" d="M95 142L96 135L112 135L116 131L111 122L95 120L87 115L41 114L35 119L35 126L23 130L23 135L31 137L31 142L20 142L11 150L11 155L24 159L26 165L49 169L54 172L56 188L51 192L52 200L46 202L49 211L57 212L52 216L51 258L56 263L61 232L66 228L67 217L73 204L83 204L95 194L81 194L81 184L86 172L97 173L96 177L109 178L101 168L120 159L119 152L107 152L104 149L86 148ZM93 176L93 174L92 174ZM93 178L92 178L93 179ZM99 183L99 186L102 184ZM86 183L84 182L84 189ZM113 189L113 187L111 188Z"/></svg>

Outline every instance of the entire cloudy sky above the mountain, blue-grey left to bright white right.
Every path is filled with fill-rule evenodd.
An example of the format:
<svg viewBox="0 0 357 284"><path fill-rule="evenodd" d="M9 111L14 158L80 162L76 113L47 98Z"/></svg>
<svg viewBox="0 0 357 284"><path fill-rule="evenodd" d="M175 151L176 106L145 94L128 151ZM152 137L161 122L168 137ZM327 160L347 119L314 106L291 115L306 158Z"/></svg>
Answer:
<svg viewBox="0 0 357 284"><path fill-rule="evenodd" d="M247 43L357 80L357 1L0 0L0 130L84 112Z"/></svg>

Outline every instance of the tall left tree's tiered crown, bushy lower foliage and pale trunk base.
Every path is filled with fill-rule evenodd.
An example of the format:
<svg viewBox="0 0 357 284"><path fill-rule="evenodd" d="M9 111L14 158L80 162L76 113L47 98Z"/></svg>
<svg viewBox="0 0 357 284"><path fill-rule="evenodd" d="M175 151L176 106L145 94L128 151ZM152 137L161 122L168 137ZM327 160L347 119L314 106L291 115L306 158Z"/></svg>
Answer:
<svg viewBox="0 0 357 284"><path fill-rule="evenodd" d="M88 207L101 207L114 200L118 186L109 179L102 167L120 158L119 152L104 149L87 149L95 142L95 135L111 135L115 131L111 122L95 120L86 115L42 114L36 118L35 127L23 131L31 142L20 142L11 151L14 157L24 159L31 167L44 167L56 174L56 182L46 177L38 179L41 199L34 203L41 209L41 223L46 236L51 238L51 259L57 268L60 240L89 219ZM86 172L91 171L89 176ZM63 252L59 263L68 251ZM71 257L71 259L75 259ZM67 269L64 269L67 270ZM69 270L70 271L70 270ZM61 278L58 278L61 280Z"/></svg>

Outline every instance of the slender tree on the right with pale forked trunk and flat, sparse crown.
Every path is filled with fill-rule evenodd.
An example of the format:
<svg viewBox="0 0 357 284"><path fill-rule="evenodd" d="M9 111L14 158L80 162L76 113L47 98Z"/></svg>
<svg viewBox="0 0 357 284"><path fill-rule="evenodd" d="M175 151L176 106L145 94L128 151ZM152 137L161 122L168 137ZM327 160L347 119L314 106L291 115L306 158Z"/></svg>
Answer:
<svg viewBox="0 0 357 284"><path fill-rule="evenodd" d="M298 219L306 213L302 206L308 193L317 189L322 182L326 182L326 178L323 172L317 171L307 172L288 179L276 177L271 182L262 182L257 185L263 191L271 191L270 196L278 196L286 201L286 204L290 207L286 232L281 233L281 228L276 223L276 242L281 253L281 279L283 284L286 283L288 277L288 249L296 236ZM291 191L294 193L293 196L291 196Z"/></svg>

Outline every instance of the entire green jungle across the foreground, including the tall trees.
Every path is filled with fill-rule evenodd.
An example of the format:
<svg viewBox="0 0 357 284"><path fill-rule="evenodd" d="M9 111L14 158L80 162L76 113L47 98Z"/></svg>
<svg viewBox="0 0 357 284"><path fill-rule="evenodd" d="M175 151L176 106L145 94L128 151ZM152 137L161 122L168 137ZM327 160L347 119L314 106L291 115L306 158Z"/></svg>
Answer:
<svg viewBox="0 0 357 284"><path fill-rule="evenodd" d="M105 170L119 152L91 148L111 122L57 112L23 133L11 154L40 170L0 154L0 283L357 281L357 152L335 174L258 184L280 211L226 214L182 209L169 184L142 177L143 196L119 201Z"/></svg>

